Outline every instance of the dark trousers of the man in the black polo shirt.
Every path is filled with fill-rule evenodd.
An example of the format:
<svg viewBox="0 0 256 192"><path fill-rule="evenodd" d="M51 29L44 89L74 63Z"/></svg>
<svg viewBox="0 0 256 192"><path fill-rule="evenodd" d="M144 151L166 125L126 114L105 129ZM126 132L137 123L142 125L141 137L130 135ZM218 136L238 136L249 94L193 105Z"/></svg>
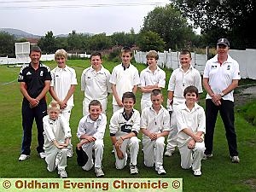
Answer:
<svg viewBox="0 0 256 192"><path fill-rule="evenodd" d="M36 108L30 108L29 102L23 100L22 102L22 127L23 138L21 146L21 154L30 154L32 142L32 125L34 119L36 120L38 128L38 154L44 152L44 125L43 118L47 114L46 102L39 102Z"/></svg>

